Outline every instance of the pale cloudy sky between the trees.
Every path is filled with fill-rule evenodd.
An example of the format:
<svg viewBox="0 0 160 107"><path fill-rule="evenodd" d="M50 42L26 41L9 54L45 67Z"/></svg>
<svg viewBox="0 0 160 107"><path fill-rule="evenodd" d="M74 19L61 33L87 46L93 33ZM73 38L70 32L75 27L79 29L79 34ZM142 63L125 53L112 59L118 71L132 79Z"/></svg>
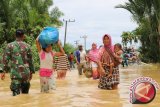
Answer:
<svg viewBox="0 0 160 107"><path fill-rule="evenodd" d="M82 36L86 35L86 48L91 44L102 45L102 37L109 34L113 45L121 43L123 31L132 31L137 27L132 20L132 15L124 9L115 8L118 4L124 4L128 0L53 0L64 16L60 20L75 20L67 26L66 42L76 46L75 41L84 45ZM65 23L59 28L60 40L64 42Z"/></svg>

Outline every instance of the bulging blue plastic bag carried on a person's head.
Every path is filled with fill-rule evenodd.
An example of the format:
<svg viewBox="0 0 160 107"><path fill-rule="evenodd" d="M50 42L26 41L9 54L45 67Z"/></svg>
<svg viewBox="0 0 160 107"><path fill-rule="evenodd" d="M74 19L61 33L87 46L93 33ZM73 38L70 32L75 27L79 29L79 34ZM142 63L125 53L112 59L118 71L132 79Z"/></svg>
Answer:
<svg viewBox="0 0 160 107"><path fill-rule="evenodd" d="M50 44L55 44L58 40L59 32L54 27L45 27L39 36L39 42L42 48L46 48Z"/></svg>

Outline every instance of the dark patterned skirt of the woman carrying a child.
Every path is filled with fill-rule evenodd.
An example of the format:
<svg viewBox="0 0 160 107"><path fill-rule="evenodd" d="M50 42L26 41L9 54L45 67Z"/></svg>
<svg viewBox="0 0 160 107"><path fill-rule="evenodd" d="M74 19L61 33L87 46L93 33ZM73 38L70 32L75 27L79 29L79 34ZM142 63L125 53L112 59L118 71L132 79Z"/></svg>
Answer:
<svg viewBox="0 0 160 107"><path fill-rule="evenodd" d="M119 68L118 67L113 68L112 77L110 78L107 78L109 74L109 67L103 67L103 68L106 72L106 75L100 77L98 88L110 90L112 89L113 85L119 84Z"/></svg>

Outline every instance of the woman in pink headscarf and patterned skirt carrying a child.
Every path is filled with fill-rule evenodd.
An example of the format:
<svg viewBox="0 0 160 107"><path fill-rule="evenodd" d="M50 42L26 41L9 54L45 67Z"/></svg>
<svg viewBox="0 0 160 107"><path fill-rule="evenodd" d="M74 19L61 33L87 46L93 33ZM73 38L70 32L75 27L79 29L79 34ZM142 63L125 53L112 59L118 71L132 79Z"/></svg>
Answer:
<svg viewBox="0 0 160 107"><path fill-rule="evenodd" d="M103 44L99 49L100 80L98 88L116 89L119 84L119 69L114 60L114 47L108 34L103 36Z"/></svg>

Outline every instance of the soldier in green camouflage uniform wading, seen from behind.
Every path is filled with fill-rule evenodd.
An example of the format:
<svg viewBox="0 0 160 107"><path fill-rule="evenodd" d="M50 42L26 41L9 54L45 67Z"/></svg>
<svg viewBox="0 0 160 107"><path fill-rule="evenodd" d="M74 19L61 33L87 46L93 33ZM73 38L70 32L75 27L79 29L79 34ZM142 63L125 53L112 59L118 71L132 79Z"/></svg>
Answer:
<svg viewBox="0 0 160 107"><path fill-rule="evenodd" d="M23 42L24 38L24 31L16 30L16 40L7 45L3 55L4 73L1 77L8 71L10 62L10 89L13 96L29 92L32 73L35 73L30 46Z"/></svg>

